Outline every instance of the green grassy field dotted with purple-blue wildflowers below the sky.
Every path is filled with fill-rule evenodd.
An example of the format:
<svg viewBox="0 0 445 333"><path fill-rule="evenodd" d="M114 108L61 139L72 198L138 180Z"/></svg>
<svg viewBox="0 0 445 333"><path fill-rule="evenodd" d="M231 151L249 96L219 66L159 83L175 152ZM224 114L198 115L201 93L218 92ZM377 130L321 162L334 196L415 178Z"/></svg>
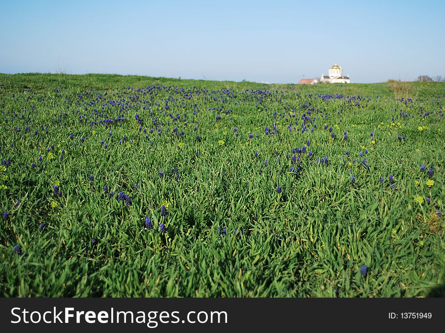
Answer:
<svg viewBox="0 0 445 333"><path fill-rule="evenodd" d="M445 83L0 74L0 296L445 296L444 112Z"/></svg>

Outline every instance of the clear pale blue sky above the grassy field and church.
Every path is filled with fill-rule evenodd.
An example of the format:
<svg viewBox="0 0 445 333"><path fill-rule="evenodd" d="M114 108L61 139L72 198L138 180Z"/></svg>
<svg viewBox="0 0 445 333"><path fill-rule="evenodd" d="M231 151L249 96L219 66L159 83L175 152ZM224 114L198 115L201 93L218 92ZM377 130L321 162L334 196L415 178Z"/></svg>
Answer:
<svg viewBox="0 0 445 333"><path fill-rule="evenodd" d="M0 0L0 72L293 83L445 76L445 1Z"/></svg>

